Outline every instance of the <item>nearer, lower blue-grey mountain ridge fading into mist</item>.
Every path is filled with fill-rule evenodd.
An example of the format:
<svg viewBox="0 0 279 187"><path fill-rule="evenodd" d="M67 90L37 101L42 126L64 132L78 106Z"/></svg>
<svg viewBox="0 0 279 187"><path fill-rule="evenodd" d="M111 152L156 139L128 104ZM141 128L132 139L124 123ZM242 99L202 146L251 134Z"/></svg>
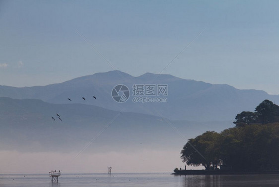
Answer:
<svg viewBox="0 0 279 187"><path fill-rule="evenodd" d="M204 131L220 132L233 126L231 122L172 121L129 109L118 112L87 104L0 97L0 150L69 152L81 151L88 144L86 151L98 152L179 150Z"/></svg>

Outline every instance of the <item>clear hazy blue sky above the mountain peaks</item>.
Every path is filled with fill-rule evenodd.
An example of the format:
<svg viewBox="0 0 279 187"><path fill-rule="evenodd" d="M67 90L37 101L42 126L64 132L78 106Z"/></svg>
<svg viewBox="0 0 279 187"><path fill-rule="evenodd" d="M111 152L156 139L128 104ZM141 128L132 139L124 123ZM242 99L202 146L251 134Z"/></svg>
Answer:
<svg viewBox="0 0 279 187"><path fill-rule="evenodd" d="M276 0L1 0L0 85L117 69L279 94L278 7Z"/></svg>

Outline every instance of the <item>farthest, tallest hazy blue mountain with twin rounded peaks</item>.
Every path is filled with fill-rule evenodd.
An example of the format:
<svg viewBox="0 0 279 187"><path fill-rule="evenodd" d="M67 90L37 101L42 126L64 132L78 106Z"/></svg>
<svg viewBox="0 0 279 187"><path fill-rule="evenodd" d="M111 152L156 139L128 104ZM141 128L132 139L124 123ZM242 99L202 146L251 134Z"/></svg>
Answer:
<svg viewBox="0 0 279 187"><path fill-rule="evenodd" d="M126 85L130 90L129 99L123 103L112 98L112 90L119 84ZM133 102L134 84L167 85L168 95L148 96L167 98L167 102ZM93 99L93 95L97 99ZM0 96L41 99L54 104L89 104L115 111L124 108L130 112L187 121L233 121L236 114L253 110L265 99L279 103L279 95L269 95L264 91L239 90L229 85L213 85L172 75L145 73L134 77L121 71L95 73L47 86L0 86Z"/></svg>

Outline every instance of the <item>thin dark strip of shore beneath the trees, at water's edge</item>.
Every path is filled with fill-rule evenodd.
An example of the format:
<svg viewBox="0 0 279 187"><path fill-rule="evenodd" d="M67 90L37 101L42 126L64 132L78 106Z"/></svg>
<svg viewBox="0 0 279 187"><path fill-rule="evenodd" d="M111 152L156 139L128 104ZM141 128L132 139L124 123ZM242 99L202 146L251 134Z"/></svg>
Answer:
<svg viewBox="0 0 279 187"><path fill-rule="evenodd" d="M171 175L279 175L279 171L206 171L206 170L181 170Z"/></svg>

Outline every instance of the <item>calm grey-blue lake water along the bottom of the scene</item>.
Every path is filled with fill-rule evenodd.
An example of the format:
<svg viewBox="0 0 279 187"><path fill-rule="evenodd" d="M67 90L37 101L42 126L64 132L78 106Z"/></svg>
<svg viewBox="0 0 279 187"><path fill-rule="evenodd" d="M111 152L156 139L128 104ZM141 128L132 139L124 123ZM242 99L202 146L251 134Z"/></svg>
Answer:
<svg viewBox="0 0 279 187"><path fill-rule="evenodd" d="M24 177L25 176L25 177ZM0 174L0 187L279 187L279 175Z"/></svg>

